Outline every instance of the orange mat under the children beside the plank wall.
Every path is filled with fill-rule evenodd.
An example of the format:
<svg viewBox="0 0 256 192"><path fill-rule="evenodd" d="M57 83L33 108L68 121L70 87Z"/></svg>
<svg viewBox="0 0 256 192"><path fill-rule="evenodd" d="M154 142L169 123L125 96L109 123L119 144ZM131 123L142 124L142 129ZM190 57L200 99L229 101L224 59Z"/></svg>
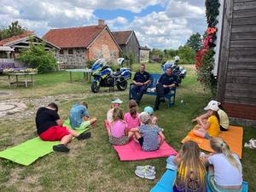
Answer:
<svg viewBox="0 0 256 192"><path fill-rule="evenodd" d="M243 130L241 126L230 125L229 131L221 131L218 135L218 137L222 137L224 139L224 141L230 146L230 150L236 153L240 159L242 150L242 134ZM201 149L213 152L210 146L210 141L202 137L196 137L192 131L189 131L189 134L183 138L182 143L189 140L198 143Z"/></svg>

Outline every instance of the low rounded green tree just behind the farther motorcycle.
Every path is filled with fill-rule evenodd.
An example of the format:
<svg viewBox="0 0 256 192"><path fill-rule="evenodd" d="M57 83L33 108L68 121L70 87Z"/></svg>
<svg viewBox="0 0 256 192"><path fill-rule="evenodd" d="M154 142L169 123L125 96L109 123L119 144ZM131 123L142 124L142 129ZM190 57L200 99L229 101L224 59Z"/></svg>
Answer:
<svg viewBox="0 0 256 192"><path fill-rule="evenodd" d="M191 64L195 63L195 50L191 47L184 45L178 48L177 55L180 58L179 63Z"/></svg>

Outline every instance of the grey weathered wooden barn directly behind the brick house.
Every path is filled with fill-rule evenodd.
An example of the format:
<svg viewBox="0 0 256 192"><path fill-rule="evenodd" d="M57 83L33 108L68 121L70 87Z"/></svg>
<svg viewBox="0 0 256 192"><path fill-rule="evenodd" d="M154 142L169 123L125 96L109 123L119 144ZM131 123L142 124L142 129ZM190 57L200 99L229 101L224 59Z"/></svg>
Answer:
<svg viewBox="0 0 256 192"><path fill-rule="evenodd" d="M112 32L113 37L119 44L119 47L122 49L123 54L126 58L131 59L134 57L135 62L140 61L140 44L137 40L136 34L133 31L122 31L122 32Z"/></svg>

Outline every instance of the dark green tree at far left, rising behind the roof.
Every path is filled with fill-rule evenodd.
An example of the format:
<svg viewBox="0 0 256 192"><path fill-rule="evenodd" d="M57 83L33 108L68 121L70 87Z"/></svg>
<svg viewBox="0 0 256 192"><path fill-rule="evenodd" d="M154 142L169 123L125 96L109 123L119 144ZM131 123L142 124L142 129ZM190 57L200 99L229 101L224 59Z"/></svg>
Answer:
<svg viewBox="0 0 256 192"><path fill-rule="evenodd" d="M26 29L19 25L19 21L12 22L8 27L0 30L0 40L10 38L15 35L20 35L25 32Z"/></svg>

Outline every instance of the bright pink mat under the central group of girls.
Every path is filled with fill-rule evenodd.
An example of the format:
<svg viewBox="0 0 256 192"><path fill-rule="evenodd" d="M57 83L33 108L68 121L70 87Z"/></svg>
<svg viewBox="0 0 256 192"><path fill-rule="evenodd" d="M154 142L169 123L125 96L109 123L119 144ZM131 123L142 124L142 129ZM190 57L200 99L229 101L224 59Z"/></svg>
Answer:
<svg viewBox="0 0 256 192"><path fill-rule="evenodd" d="M105 127L109 129L107 121L105 121ZM133 139L125 145L113 145L113 148L118 153L120 160L146 160L177 154L177 151L166 142L164 142L158 150L150 152L143 151L140 144Z"/></svg>

